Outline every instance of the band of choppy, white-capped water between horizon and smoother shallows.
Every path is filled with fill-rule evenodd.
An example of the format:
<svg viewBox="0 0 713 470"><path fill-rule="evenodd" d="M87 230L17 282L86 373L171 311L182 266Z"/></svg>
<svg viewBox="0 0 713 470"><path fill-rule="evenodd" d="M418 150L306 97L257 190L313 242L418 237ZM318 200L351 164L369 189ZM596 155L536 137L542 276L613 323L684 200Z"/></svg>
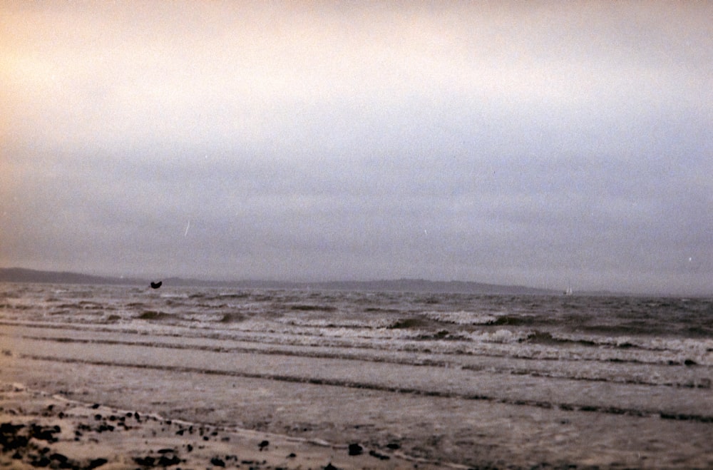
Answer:
<svg viewBox="0 0 713 470"><path fill-rule="evenodd" d="M262 344L713 366L713 300L0 285L0 322Z"/></svg>

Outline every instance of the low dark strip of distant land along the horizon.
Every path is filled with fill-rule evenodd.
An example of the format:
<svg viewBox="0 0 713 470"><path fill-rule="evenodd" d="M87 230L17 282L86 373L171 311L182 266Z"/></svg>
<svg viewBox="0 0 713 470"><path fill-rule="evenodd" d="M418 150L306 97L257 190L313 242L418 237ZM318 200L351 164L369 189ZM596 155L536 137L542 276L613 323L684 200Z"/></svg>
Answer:
<svg viewBox="0 0 713 470"><path fill-rule="evenodd" d="M46 284L149 285L140 277L106 277L78 272L40 271L21 267L0 268L0 282L37 282ZM503 295L558 295L558 290L538 289L519 285L496 285L483 282L429 281L421 279L374 281L288 282L269 280L212 281L167 277L165 287L232 287L238 289L322 289L396 292L431 292Z"/></svg>

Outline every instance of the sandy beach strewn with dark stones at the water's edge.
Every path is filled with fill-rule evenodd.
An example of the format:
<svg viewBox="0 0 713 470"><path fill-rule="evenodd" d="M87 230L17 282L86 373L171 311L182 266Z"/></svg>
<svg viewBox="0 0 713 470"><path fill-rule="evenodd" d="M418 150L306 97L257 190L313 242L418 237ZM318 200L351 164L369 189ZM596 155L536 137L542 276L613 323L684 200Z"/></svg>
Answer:
<svg viewBox="0 0 713 470"><path fill-rule="evenodd" d="M171 420L77 402L22 384L0 384L0 390L3 468L435 468L357 443Z"/></svg>

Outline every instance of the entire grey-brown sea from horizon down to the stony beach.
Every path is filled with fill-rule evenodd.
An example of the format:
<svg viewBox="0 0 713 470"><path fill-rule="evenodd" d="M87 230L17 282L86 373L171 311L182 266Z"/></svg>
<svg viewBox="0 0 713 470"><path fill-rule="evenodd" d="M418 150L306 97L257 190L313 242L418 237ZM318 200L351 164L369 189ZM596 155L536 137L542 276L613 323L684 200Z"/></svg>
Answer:
<svg viewBox="0 0 713 470"><path fill-rule="evenodd" d="M414 462L713 467L711 298L4 283L0 344L74 398Z"/></svg>

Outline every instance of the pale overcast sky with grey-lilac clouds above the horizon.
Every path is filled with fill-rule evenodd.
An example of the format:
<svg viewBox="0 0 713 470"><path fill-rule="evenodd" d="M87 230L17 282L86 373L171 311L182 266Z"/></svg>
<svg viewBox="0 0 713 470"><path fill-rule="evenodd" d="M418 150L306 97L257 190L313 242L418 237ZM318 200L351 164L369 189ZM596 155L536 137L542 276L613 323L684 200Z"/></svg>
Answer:
<svg viewBox="0 0 713 470"><path fill-rule="evenodd" d="M0 266L713 292L713 4L0 6Z"/></svg>

